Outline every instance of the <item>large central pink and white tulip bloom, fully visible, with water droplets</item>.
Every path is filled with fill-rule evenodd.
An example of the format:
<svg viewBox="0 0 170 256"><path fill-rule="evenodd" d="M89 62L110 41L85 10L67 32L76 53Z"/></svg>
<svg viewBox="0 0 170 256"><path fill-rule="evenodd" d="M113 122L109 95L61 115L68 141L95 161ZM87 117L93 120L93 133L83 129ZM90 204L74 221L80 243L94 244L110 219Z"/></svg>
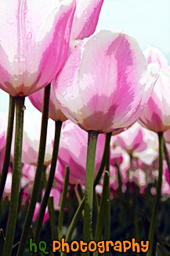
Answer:
<svg viewBox="0 0 170 256"><path fill-rule="evenodd" d="M153 65L150 73L154 73ZM125 128L142 113L154 86L136 40L102 31L74 47L52 82L60 108L86 131Z"/></svg>

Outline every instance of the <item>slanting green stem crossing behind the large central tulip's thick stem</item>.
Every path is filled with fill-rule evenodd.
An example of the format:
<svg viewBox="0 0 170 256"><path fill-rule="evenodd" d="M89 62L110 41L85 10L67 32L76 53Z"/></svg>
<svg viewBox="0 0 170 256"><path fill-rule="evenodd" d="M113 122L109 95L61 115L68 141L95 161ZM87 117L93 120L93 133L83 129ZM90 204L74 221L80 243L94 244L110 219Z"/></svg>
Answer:
<svg viewBox="0 0 170 256"><path fill-rule="evenodd" d="M103 150L103 158L102 158L101 164L99 166L99 170L96 175L96 178L94 180L94 188L96 187L97 184L99 184L99 180L103 174L103 169L106 165L106 159L107 159L107 155L108 155L108 151L109 151L109 147L110 147L110 139L111 139L111 132L106 134L106 140L105 140L105 145L104 145L104 150ZM68 228L67 235L66 235L67 243L69 243L71 241L71 236L74 232L74 228L76 227L76 224L78 223L79 217L81 216L81 213L84 210L84 207L85 207L85 196L84 196L84 198L82 198L81 203L78 206L78 210L74 214L74 217L73 217L71 224ZM61 255L64 255L64 254L61 254Z"/></svg>

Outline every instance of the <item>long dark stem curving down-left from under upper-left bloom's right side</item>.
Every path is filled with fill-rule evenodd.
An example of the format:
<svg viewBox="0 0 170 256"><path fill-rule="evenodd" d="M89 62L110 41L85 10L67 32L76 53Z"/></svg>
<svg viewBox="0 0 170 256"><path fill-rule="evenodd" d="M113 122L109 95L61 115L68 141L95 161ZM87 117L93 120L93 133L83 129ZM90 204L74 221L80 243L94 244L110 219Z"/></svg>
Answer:
<svg viewBox="0 0 170 256"><path fill-rule="evenodd" d="M45 146L46 146L46 135L47 135L47 126L49 118L49 95L50 95L50 83L44 89L44 100L43 100L43 109L42 109L42 128L40 135L40 144L38 151L38 164L34 177L34 186L31 195L30 205L27 210L27 216L24 223L24 229L20 239L20 246L18 248L17 256L23 256L24 250L27 244L27 237L30 232L31 222L34 215L35 205L38 199L39 187L42 179L42 170L44 165L45 158Z"/></svg>

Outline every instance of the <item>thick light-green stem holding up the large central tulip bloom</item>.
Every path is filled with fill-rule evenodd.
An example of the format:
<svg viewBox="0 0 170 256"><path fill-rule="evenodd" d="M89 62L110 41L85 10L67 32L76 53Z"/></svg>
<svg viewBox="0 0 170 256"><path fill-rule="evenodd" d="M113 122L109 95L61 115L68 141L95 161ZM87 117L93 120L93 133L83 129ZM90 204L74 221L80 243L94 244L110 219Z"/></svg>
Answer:
<svg viewBox="0 0 170 256"><path fill-rule="evenodd" d="M85 216L83 225L83 240L85 242L89 242L92 232L93 180L98 132L89 131L88 134L88 152L85 174ZM89 252L85 254L89 255Z"/></svg>

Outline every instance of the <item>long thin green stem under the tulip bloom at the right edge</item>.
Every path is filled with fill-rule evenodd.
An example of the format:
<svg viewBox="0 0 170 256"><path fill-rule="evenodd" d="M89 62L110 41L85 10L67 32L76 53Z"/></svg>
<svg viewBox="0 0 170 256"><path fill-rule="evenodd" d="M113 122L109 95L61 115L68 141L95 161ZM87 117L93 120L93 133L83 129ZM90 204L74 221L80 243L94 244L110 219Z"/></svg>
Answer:
<svg viewBox="0 0 170 256"><path fill-rule="evenodd" d="M149 232L149 241L150 241L150 248L147 252L147 256L153 255L153 245L154 245L154 228L155 222L157 217L157 210L159 206L159 202L161 199L161 184L162 184L162 174L163 174L163 154L164 154L164 139L163 139L163 132L158 132L158 139L159 139L159 175L157 180L157 195L154 201L154 208L152 212L152 218L150 222L150 232Z"/></svg>

